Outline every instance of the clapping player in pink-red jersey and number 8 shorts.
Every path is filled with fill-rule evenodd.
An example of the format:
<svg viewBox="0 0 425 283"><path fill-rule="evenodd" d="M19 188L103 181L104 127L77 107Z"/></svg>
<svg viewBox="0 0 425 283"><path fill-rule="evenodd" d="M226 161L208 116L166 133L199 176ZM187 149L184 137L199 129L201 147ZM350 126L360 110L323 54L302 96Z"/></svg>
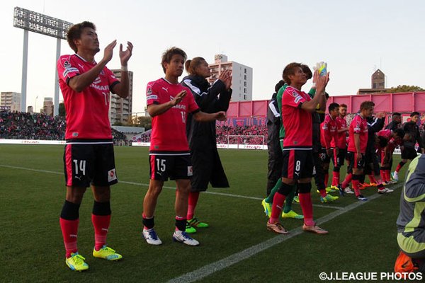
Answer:
<svg viewBox="0 0 425 283"><path fill-rule="evenodd" d="M282 98L282 121L285 128L283 140L282 186L273 197L271 217L267 221L267 229L276 233L288 233L279 223L278 217L285 202L285 197L293 191L295 183L299 189L300 204L304 214L304 231L324 234L313 221L312 199L310 190L313 171L312 158L312 115L317 108L326 106L324 88L329 81L329 74L318 79L316 94L310 98L301 91L307 76L299 63L290 63L283 70L283 79L288 82Z"/></svg>

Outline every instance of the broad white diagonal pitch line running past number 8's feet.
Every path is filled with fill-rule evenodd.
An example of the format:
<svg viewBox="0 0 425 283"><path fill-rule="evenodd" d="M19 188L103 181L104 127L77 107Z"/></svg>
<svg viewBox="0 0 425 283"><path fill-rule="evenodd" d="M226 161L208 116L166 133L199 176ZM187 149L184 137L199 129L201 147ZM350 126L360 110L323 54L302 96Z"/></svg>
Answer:
<svg viewBox="0 0 425 283"><path fill-rule="evenodd" d="M397 185L395 188L402 187L403 184ZM317 221L319 224L324 224L331 219L334 219L337 216L340 216L341 214L344 214L346 212L349 212L357 207L360 207L363 204L366 204L370 202L371 200L375 200L376 198L380 197L381 195L375 194L369 197L369 200L367 202L354 202L353 204L349 204L343 209L339 209L336 212L331 212L330 214L327 214L326 216L323 216ZM250 248L246 248L245 250L242 250L239 253L234 253L233 255L229 255L227 258L223 258L222 260L217 260L216 262L212 262L209 265L205 265L203 267L198 268L197 270L193 270L192 272L188 272L184 275L181 275L179 277L176 277L174 279L169 280L168 283L180 283L180 282L195 282L200 279L203 279L204 277L207 277L209 275L212 275L215 272L218 272L220 270L224 270L225 268L234 265L238 262L241 262L242 260L246 260L248 258L251 258L252 256L256 255L257 253L261 253L263 250L267 250L268 248L271 248L273 246L278 245L279 243L282 243L284 241L289 240L290 238L293 238L295 236L300 235L302 233L301 227L298 227L297 229L293 229L290 231L288 235L285 236L275 236L267 241L263 241L262 243L259 243L255 246L251 246Z"/></svg>

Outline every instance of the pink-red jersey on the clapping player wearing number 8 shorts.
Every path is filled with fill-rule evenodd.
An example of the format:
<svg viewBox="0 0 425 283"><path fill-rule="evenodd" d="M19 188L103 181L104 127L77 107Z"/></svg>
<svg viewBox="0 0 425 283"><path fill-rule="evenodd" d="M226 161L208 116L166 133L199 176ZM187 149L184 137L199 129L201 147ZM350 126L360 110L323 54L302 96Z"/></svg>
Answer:
<svg viewBox="0 0 425 283"><path fill-rule="evenodd" d="M282 96L282 121L285 128L283 149L312 149L312 114L301 105L312 100L304 91L288 86Z"/></svg>

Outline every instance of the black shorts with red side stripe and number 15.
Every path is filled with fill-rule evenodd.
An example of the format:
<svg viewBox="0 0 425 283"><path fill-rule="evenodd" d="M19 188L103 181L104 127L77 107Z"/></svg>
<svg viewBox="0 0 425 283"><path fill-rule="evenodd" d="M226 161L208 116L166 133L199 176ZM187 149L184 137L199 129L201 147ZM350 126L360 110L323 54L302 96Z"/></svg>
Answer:
<svg viewBox="0 0 425 283"><path fill-rule="evenodd" d="M193 175L191 154L149 154L149 178L152 180L190 179Z"/></svg>

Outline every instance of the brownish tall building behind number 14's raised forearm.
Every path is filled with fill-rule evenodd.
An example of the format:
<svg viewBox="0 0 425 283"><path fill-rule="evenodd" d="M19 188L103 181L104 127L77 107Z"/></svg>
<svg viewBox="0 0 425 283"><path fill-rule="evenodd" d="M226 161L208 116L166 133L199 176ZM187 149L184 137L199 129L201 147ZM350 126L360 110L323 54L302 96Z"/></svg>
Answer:
<svg viewBox="0 0 425 283"><path fill-rule="evenodd" d="M121 69L114 69L113 74L117 79L121 79ZM120 98L120 96L110 93L109 95L109 120L111 125L120 122L127 124L131 119L132 112L132 78L133 72L128 71L128 78L130 79L130 95L127 98Z"/></svg>

